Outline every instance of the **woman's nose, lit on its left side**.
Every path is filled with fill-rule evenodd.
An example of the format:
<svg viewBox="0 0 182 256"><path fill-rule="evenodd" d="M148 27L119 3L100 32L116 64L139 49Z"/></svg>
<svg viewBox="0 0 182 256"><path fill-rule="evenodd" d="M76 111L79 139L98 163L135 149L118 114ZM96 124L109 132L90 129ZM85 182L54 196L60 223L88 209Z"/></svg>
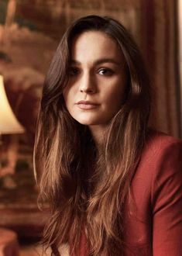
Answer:
<svg viewBox="0 0 182 256"><path fill-rule="evenodd" d="M80 81L80 92L94 94L96 92L96 85L93 74L83 74Z"/></svg>

